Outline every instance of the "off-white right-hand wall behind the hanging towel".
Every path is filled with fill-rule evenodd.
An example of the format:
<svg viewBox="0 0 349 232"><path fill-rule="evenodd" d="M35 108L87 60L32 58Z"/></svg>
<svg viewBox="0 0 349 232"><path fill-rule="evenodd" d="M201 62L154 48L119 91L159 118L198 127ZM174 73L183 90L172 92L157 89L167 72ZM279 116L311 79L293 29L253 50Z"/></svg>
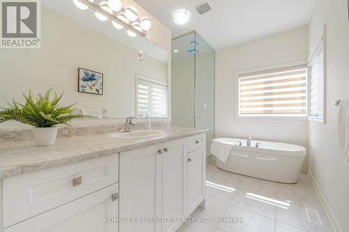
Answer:
<svg viewBox="0 0 349 232"><path fill-rule="evenodd" d="M336 147L339 107L349 97L349 23L347 0L318 0L309 24L309 49L323 25L327 29L327 122L309 122L309 168L341 231L349 231L349 162Z"/></svg>

